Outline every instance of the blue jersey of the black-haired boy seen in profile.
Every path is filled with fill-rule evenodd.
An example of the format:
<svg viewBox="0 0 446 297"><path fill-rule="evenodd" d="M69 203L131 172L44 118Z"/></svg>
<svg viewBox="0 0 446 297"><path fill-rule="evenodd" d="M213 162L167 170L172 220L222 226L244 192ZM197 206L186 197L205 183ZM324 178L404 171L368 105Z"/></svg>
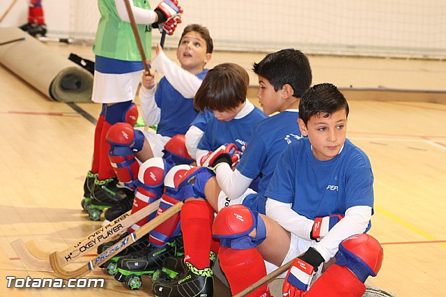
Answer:
<svg viewBox="0 0 446 297"><path fill-rule="evenodd" d="M257 197L251 199L247 205L254 211L265 213L265 191L279 157L288 144L301 138L298 117L297 111L285 111L271 116L259 123L249 139L237 169L247 178L261 177Z"/></svg>

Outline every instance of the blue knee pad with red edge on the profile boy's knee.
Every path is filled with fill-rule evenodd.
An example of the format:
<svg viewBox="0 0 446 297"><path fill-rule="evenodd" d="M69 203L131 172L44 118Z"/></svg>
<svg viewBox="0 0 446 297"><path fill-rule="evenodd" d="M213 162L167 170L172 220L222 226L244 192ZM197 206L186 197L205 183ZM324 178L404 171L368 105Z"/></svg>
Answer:
<svg viewBox="0 0 446 297"><path fill-rule="evenodd" d="M206 167L194 167L190 169L180 180L178 190L183 196L183 200L195 197L204 198L204 188L208 183L209 178L215 176L215 173Z"/></svg>

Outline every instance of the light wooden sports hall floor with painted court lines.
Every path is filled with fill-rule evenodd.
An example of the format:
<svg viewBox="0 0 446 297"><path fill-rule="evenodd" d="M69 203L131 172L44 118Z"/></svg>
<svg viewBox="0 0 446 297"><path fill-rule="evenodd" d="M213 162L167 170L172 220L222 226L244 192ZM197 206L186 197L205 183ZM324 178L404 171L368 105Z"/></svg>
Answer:
<svg viewBox="0 0 446 297"><path fill-rule="evenodd" d="M89 47L48 46L67 57L75 52L92 58ZM236 61L249 69L263 56L217 52L209 66ZM314 83L357 86L357 98L350 101L348 138L369 155L374 169L370 233L385 251L383 268L371 282L397 296L446 296L445 62L342 57L310 61ZM360 92L383 91L378 86L415 90L420 101L392 100L383 93L376 100ZM24 266L10 242L33 239L42 250L63 250L100 223L88 220L80 207L93 152L93 123L69 105L48 100L2 66L0 89L0 296L151 296L148 278L140 291L128 291L100 270L89 277L105 278L105 289L6 287L8 275L55 277ZM429 93L436 99L429 99ZM93 103L77 106L93 118L100 111ZM215 296L227 296L220 290Z"/></svg>

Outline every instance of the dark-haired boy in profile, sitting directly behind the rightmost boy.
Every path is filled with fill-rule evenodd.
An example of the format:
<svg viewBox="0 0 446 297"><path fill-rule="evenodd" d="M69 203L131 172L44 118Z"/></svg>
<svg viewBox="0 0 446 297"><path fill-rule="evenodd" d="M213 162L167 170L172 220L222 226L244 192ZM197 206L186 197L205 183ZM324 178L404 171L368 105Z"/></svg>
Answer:
<svg viewBox="0 0 446 297"><path fill-rule="evenodd" d="M280 50L268 54L259 63L254 63L253 70L259 77L257 97L261 107L266 114L275 112L279 114L264 119L257 125L247 142L243 158L240 159L234 171L231 169L230 162L219 162L219 160L230 160L221 158L224 150L222 150L222 155L215 153L211 157L215 158L215 161L211 162L210 166L215 170L216 179L210 178L206 183L206 187L211 188L212 191L206 192L206 197L202 197L206 200L192 198L183 206L186 211L187 208L197 208L195 213L208 218L208 220L195 218L192 227L187 227L188 229L184 227L185 231L183 231L186 234L190 229L194 229L194 232L189 233L195 237L189 241L185 238L185 256L187 262L197 268L206 264L203 261L206 261L209 250L203 248L206 246L204 241L210 241L210 226L215 211L220 211L230 204L244 204L264 214L265 191L277 160L289 143L301 137L297 125L298 105L300 96L312 82L312 70L307 56L298 50ZM206 172L199 173L198 176L201 175L206 175ZM248 189L254 179L259 176L261 176L259 191L254 192ZM204 215L205 211L207 215ZM183 213L185 213L184 210ZM187 222L186 218L182 224L187 226L191 223Z"/></svg>

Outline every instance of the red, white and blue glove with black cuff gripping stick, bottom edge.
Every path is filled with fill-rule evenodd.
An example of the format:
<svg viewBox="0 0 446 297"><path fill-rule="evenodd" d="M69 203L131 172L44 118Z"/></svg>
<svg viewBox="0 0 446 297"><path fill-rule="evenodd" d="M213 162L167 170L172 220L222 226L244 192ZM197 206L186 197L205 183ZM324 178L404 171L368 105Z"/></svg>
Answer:
<svg viewBox="0 0 446 297"><path fill-rule="evenodd" d="M318 266L324 261L321 254L314 248L295 258L293 264L286 273L285 282L282 287L282 296L300 297L308 291L313 277L318 271Z"/></svg>

